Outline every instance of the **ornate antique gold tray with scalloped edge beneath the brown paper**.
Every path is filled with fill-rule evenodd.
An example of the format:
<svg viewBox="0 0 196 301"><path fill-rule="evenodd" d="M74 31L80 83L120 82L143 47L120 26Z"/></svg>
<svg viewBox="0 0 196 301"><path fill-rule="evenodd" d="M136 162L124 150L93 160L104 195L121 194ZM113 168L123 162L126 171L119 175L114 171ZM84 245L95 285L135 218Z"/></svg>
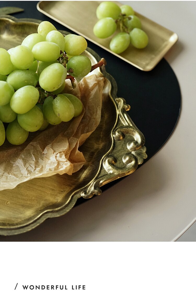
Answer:
<svg viewBox="0 0 196 301"><path fill-rule="evenodd" d="M36 32L39 22L1 16L0 47L19 45L25 36ZM91 49L86 55L95 63L100 59ZM0 235L29 231L47 218L67 213L79 197L100 194L101 186L131 174L147 157L145 138L126 113L130 106L123 98L116 98L116 82L105 68L98 72L109 80L110 93L103 103L98 128L80 147L86 164L72 176L35 178L0 191Z"/></svg>

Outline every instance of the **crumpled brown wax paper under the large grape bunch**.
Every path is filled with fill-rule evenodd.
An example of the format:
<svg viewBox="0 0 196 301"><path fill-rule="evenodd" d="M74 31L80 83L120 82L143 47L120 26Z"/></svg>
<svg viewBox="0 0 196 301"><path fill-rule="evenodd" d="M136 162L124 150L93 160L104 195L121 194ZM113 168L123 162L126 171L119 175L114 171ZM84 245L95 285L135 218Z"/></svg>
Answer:
<svg viewBox="0 0 196 301"><path fill-rule="evenodd" d="M106 83L106 81L105 81ZM107 83L106 83L107 84ZM81 99L83 111L69 122L30 133L25 143L0 147L0 190L12 189L33 178L54 174L71 175L86 162L78 150L101 119L104 78L95 74L83 78L73 89L70 82L61 93Z"/></svg>

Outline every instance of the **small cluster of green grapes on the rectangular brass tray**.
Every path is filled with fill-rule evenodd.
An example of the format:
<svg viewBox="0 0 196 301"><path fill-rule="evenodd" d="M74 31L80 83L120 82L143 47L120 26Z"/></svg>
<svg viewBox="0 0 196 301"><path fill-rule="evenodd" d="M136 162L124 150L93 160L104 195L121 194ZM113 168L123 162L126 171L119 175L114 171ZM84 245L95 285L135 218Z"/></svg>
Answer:
<svg viewBox="0 0 196 301"><path fill-rule="evenodd" d="M117 33L110 41L110 50L120 54L130 44L135 48L142 49L148 45L148 36L143 31L140 19L135 15L129 5L120 7L110 1L101 2L96 10L98 22L93 28L93 33L99 39L112 36L120 26L120 33Z"/></svg>

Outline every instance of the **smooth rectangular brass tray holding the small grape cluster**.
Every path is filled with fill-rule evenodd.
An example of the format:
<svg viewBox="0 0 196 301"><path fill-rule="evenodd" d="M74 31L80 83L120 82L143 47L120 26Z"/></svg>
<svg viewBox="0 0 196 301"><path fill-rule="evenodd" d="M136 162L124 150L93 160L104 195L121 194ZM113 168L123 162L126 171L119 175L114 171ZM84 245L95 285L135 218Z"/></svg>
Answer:
<svg viewBox="0 0 196 301"><path fill-rule="evenodd" d="M149 44L144 49L136 49L129 46L122 54L115 54L109 49L111 37L98 39L93 34L93 26L97 22L96 8L100 2L40 1L37 4L37 9L51 19L143 71L152 70L178 40L176 33L135 12L135 15L142 22L142 29L148 34ZM122 5L118 2L117 4L119 6Z"/></svg>

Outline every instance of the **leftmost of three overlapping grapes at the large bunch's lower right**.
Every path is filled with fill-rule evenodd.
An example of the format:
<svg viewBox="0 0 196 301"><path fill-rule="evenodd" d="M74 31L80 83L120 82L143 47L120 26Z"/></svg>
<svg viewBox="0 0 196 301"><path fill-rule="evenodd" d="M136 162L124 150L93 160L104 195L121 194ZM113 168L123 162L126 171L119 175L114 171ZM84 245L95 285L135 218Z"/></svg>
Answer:
<svg viewBox="0 0 196 301"><path fill-rule="evenodd" d="M62 122L61 119L59 119L56 114L54 113L53 107L52 107L52 102L53 102L53 97L49 96L45 99L44 104L43 104L43 115L45 119L52 125L56 125Z"/></svg>

